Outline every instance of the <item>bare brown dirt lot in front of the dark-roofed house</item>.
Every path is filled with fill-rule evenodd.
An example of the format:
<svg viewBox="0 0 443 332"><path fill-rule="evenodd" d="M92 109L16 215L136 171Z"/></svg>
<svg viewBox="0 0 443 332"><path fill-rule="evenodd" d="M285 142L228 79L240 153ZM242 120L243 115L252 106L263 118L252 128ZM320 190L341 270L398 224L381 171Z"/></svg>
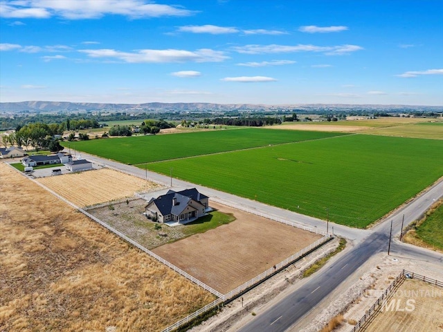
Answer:
<svg viewBox="0 0 443 332"><path fill-rule="evenodd" d="M237 220L153 252L226 294L321 236L210 202Z"/></svg>

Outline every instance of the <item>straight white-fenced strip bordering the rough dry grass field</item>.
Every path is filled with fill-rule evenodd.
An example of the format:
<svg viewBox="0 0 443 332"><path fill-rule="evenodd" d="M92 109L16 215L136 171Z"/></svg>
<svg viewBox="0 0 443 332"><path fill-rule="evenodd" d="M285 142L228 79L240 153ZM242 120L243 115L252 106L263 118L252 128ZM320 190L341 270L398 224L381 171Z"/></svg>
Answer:
<svg viewBox="0 0 443 332"><path fill-rule="evenodd" d="M125 234L123 234L122 232L118 231L117 229L115 229L114 227L111 227L110 225L108 225L106 222L103 222L102 220L98 219L96 216L93 216L91 213L85 211L84 209L76 206L75 204L73 204L72 202L69 202L69 200L66 200L66 198L63 198L61 195L55 193L55 191L52 191L51 189L49 189L48 187L46 187L44 184L39 183L37 180L35 179L30 179L33 182L35 182L36 184L38 184L39 186L41 186L43 189L45 189L46 191L52 193L53 195L55 195L55 197L59 198L60 200L66 202L67 204L71 205L71 207L73 207L74 209L82 212L85 216L91 218L92 220L94 220L95 222L98 222L98 224L102 225L103 227L105 227L106 229L108 229L109 231L111 231L112 233L116 234L117 236L120 236L120 238L123 238L123 240L127 241L128 243L131 243L132 245L134 245L135 247L137 247L138 249L140 249L141 251L145 252L146 254L150 255L152 258L156 259L157 261L159 261L160 263L163 263L164 265L168 266L168 268L171 268L172 270L174 270L175 272L178 272L179 274L181 274L183 277L186 277L186 279L189 279L190 281L192 281L193 283L196 283L198 286L200 286L201 288L204 288L205 290L208 290L208 292L213 293L213 295L223 299L224 295L221 294L221 292L218 292L217 290L211 288L210 286L206 285L206 283L203 283L201 281L199 281L199 279L192 277L192 275L188 274L187 272L181 270L181 268L178 268L177 266L175 266L174 264L166 261L165 259L161 258L161 256L155 254L154 252L152 252L151 250L148 250L147 248L143 247L143 245L141 245L140 243L132 240L132 238L129 238L128 236L126 236Z"/></svg>

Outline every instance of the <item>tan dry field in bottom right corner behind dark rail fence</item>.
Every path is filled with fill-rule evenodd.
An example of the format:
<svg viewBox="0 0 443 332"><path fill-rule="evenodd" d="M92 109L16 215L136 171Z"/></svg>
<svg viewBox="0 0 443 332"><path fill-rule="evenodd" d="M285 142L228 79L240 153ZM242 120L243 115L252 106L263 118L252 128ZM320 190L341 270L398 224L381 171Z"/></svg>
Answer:
<svg viewBox="0 0 443 332"><path fill-rule="evenodd" d="M443 288L424 281L406 279L391 300L395 307L412 311L381 311L365 332L443 331ZM413 299L406 305L406 301ZM388 304L390 301L388 301Z"/></svg>

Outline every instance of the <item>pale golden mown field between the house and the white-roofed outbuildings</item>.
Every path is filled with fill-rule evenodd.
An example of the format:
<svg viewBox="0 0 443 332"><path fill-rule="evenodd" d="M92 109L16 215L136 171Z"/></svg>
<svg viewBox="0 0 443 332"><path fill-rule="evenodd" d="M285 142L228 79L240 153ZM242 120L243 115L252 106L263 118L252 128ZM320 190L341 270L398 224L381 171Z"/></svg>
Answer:
<svg viewBox="0 0 443 332"><path fill-rule="evenodd" d="M132 197L136 191L152 191L161 188L154 182L109 168L42 177L37 181L78 207Z"/></svg>

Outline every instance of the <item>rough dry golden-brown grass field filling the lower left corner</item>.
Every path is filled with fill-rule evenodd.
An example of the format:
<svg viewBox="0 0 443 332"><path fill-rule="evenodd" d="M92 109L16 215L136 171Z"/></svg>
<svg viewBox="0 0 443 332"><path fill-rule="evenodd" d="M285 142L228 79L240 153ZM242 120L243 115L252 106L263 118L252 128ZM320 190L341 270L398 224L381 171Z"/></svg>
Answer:
<svg viewBox="0 0 443 332"><path fill-rule="evenodd" d="M2 162L0 178L0 331L160 331L213 301Z"/></svg>

